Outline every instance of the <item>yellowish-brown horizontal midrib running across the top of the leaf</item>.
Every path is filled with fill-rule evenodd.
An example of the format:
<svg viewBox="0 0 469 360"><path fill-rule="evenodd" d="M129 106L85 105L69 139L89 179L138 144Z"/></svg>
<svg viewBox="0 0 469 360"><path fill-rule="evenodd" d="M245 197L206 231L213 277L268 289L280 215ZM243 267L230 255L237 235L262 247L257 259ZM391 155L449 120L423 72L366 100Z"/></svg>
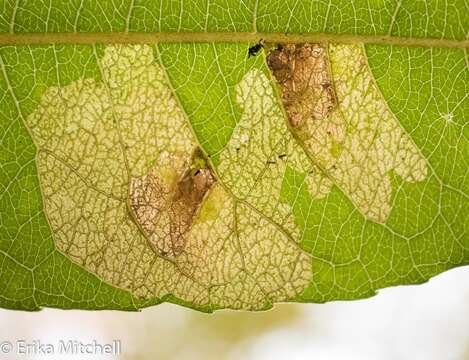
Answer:
<svg viewBox="0 0 469 360"><path fill-rule="evenodd" d="M353 35L332 33L265 32L58 32L0 33L0 45L32 44L148 44L183 42L336 42L343 44L381 44L426 48L468 49L469 40L399 37L389 35Z"/></svg>

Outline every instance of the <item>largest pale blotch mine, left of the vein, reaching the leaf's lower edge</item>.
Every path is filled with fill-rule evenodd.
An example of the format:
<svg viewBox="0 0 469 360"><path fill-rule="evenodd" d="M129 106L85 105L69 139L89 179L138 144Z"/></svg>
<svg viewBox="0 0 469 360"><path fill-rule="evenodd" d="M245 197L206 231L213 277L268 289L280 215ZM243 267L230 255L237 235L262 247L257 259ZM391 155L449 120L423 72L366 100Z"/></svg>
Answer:
<svg viewBox="0 0 469 360"><path fill-rule="evenodd" d="M157 219L167 218L168 199L174 204L180 198L165 197L162 184L177 193L174 186L184 183L197 143L154 49L110 46L99 64L102 81L51 87L27 118L57 248L104 281L142 298L173 294L195 306L259 309L300 294L312 278L311 258L291 237L298 230L287 206L279 204L278 180L274 189L262 189L270 180L259 178L259 161L265 157L255 153L252 162L231 169L231 174L238 171L240 185L233 186L233 193L242 202L220 181L204 185L192 202L192 215L184 215L190 226L181 231L183 241L169 247L161 242L171 227ZM259 146L256 139L269 141L274 122L283 123L267 80L254 75L239 86L239 101L249 109L243 122L256 107L275 115L257 119L265 123L262 132L256 129L237 140L253 147ZM271 136L273 145L284 132ZM285 151L298 157L295 161L305 163L292 148L285 144ZM229 161L226 155L224 161ZM280 178L281 169L262 173ZM134 200L148 206L140 215L129 198L133 192L138 192ZM288 231L274 219L284 221Z"/></svg>

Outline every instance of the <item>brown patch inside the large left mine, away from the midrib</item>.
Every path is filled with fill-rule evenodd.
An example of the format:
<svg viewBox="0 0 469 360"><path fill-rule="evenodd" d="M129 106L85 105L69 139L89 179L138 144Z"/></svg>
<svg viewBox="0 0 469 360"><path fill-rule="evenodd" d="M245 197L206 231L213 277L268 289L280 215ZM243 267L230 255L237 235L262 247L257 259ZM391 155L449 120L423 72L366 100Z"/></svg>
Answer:
<svg viewBox="0 0 469 360"><path fill-rule="evenodd" d="M154 250L164 257L180 255L187 234L204 199L216 182L200 149L175 177L162 176L156 165L150 173L132 179L130 205Z"/></svg>

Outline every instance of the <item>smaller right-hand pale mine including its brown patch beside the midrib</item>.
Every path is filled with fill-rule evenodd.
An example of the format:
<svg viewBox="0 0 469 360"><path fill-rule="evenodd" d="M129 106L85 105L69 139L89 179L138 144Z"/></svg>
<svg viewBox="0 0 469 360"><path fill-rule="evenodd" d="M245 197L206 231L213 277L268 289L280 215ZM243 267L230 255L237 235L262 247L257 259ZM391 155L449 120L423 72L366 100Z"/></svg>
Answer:
<svg viewBox="0 0 469 360"><path fill-rule="evenodd" d="M360 45L290 48L271 54L269 66L292 131L365 217L385 222L392 205L391 172L404 181L422 181L424 157L388 109Z"/></svg>

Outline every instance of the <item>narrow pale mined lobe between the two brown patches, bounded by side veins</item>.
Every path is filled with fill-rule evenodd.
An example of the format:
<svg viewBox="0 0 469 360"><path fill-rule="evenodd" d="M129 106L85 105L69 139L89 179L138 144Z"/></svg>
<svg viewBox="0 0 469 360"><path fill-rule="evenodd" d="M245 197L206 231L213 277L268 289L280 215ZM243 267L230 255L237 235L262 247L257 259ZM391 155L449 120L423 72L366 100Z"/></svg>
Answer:
<svg viewBox="0 0 469 360"><path fill-rule="evenodd" d="M243 114L220 154L221 180L236 197L281 223L299 241L291 208L280 201L286 167L306 175L316 198L324 197L332 183L296 143L264 73L248 72L237 85L236 95Z"/></svg>

